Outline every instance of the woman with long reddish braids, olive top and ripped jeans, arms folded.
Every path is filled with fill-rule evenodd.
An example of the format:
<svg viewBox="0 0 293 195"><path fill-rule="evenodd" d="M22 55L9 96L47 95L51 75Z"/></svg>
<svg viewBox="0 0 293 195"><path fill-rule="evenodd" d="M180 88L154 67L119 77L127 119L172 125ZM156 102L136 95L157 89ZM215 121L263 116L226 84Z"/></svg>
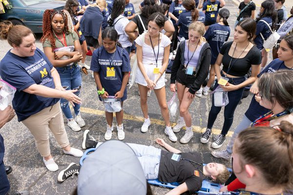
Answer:
<svg viewBox="0 0 293 195"><path fill-rule="evenodd" d="M65 10L45 10L41 42L43 43L42 46L45 55L60 75L63 89L77 89L75 95L79 96L82 88L82 76L77 62L83 59L81 45L79 42L79 36L74 30L70 16L67 16L64 13L66 13ZM54 49L67 46L74 46L74 51L54 52ZM74 104L75 118L73 118L68 100L61 98L60 104L61 109L67 118L67 125L73 131L80 131L81 127L85 126L84 119L80 114L81 105Z"/></svg>

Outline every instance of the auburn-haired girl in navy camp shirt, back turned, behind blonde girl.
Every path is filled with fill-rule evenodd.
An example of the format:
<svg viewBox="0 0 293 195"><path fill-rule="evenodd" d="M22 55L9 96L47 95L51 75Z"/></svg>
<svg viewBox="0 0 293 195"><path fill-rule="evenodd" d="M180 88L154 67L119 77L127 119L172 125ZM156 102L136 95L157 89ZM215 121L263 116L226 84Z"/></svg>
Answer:
<svg viewBox="0 0 293 195"><path fill-rule="evenodd" d="M195 7L194 0L183 0L183 7L186 9L186 12L180 14L177 26L180 27L179 38L188 39L188 27L194 21L205 22L205 14L199 12Z"/></svg>

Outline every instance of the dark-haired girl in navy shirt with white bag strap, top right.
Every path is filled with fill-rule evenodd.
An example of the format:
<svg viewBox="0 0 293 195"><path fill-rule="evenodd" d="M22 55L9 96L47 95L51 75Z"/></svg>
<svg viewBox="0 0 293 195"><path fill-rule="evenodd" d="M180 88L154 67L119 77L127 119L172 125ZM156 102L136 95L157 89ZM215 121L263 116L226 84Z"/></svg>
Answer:
<svg viewBox="0 0 293 195"><path fill-rule="evenodd" d="M274 7L274 1L265 0L264 2L262 2L260 7L260 15L256 18L256 32L253 36L253 42L255 43L257 49L261 51L262 55L261 71L264 69L268 62L268 52L263 47L264 40L262 39L260 34L262 34L265 40L270 37L272 32L268 24L271 26L272 30L274 30L276 28L277 21L278 17ZM266 22L268 24L266 24Z"/></svg>

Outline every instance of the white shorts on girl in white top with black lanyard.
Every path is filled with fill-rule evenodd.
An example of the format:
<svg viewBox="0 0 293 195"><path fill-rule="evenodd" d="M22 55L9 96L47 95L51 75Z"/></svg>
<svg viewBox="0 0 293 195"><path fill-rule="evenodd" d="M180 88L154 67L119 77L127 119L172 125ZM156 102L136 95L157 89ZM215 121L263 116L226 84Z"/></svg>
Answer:
<svg viewBox="0 0 293 195"><path fill-rule="evenodd" d="M157 77L158 74L154 74L154 68L157 68L155 64L144 64L145 70L146 70L146 75L149 79L151 79L152 81L155 80L155 78ZM162 65L158 65L158 68L161 68ZM143 85L143 86L147 86L147 82L145 77L143 76L142 72L140 71L140 69L137 69L137 73L136 73L136 77L135 77L135 82ZM156 86L154 89L161 89L162 87L165 86L165 72L164 74L159 78L159 80L156 83Z"/></svg>

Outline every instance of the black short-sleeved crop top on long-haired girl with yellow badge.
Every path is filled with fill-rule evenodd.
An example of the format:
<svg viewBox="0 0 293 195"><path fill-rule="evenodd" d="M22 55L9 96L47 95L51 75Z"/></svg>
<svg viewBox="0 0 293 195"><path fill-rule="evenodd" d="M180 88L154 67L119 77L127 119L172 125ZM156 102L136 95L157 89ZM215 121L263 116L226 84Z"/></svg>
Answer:
<svg viewBox="0 0 293 195"><path fill-rule="evenodd" d="M229 50L232 45L233 41L226 42L220 49L220 54L223 55L222 64L223 64L223 71L225 73L228 72L229 63L232 57L229 56ZM233 58L231 61L231 65L233 65L229 71L229 75L234 77L243 77L249 71L251 65L258 65L261 63L261 53L260 50L257 49L253 45L253 47L249 50L244 58Z"/></svg>

